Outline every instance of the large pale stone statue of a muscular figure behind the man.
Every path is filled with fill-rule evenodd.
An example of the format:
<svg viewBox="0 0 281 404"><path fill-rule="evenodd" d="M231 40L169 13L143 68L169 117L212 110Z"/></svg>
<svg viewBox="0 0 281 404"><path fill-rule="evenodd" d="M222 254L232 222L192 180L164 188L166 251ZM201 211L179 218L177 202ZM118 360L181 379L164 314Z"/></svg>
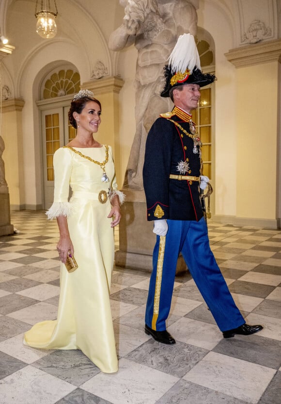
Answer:
<svg viewBox="0 0 281 404"><path fill-rule="evenodd" d="M171 110L160 97L164 70L179 35L197 32L197 13L188 0L120 0L125 7L122 25L109 38L111 50L135 44L138 50L135 93L136 134L123 188L142 190L142 167L147 133L163 112Z"/></svg>

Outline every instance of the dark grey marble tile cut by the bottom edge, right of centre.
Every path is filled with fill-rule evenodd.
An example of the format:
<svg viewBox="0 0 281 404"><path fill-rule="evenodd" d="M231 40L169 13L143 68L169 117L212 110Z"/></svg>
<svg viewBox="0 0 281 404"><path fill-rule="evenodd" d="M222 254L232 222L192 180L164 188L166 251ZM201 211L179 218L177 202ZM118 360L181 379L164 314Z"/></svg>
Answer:
<svg viewBox="0 0 281 404"><path fill-rule="evenodd" d="M179 380L156 404L249 404L208 387Z"/></svg>

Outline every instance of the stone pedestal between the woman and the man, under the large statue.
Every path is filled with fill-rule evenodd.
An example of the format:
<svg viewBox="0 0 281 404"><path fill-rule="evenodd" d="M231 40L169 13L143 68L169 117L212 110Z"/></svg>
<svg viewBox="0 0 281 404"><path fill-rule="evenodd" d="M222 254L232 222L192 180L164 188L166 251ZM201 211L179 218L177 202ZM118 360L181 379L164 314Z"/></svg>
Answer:
<svg viewBox="0 0 281 404"><path fill-rule="evenodd" d="M152 254L156 242L153 221L146 220L144 191L123 189L126 201L122 205L119 224L119 250L115 254L118 267L152 271ZM178 259L176 273L187 270L182 256Z"/></svg>

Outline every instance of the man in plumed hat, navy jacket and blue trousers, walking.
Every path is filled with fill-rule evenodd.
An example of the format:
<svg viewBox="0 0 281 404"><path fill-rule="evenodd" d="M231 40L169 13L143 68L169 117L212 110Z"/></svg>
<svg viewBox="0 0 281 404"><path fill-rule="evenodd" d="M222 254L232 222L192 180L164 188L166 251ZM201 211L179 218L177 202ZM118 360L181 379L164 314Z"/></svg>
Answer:
<svg viewBox="0 0 281 404"><path fill-rule="evenodd" d="M181 53L188 59L185 45L191 48L191 64L189 60L178 61ZM162 97L171 97L174 108L171 113L161 114L156 119L145 149L143 185L147 219L154 220L153 231L157 235L145 333L165 344L175 343L166 330L166 319L171 307L179 253L182 253L223 337L250 335L263 328L245 323L209 246L200 202L200 188L204 189L209 179L200 172L201 142L191 111L198 106L200 87L212 83L215 76L203 74L198 66L200 61L194 38L191 34L184 34L170 56L170 64L165 67L166 86L161 93Z"/></svg>

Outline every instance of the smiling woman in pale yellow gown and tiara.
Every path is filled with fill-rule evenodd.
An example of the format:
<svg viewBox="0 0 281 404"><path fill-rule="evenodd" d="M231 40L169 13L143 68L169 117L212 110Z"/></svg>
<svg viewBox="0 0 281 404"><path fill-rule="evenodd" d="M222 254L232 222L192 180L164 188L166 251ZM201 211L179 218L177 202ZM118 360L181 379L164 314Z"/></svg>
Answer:
<svg viewBox="0 0 281 404"><path fill-rule="evenodd" d="M124 194L117 190L111 147L93 134L101 105L89 90L75 95L69 120L77 135L54 153L54 202L47 211L57 218L61 258L61 293L57 320L35 324L24 344L45 349L80 349L103 372L118 370L109 288L114 260L113 227L121 219ZM68 202L69 185L72 197ZM65 267L67 252L78 269Z"/></svg>

